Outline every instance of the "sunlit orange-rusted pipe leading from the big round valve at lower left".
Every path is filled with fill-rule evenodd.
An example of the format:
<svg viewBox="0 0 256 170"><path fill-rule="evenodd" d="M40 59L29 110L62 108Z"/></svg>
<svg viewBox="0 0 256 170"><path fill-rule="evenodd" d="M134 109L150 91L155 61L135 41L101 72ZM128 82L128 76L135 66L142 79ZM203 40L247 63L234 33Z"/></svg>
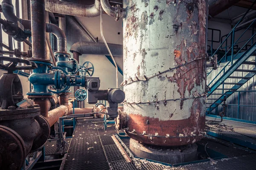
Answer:
<svg viewBox="0 0 256 170"><path fill-rule="evenodd" d="M70 110L72 110L72 108L73 108L72 103L68 102L68 105L61 105L60 107L49 111L48 116L45 119L47 120L47 122L51 127L58 121L59 117L68 115Z"/></svg>

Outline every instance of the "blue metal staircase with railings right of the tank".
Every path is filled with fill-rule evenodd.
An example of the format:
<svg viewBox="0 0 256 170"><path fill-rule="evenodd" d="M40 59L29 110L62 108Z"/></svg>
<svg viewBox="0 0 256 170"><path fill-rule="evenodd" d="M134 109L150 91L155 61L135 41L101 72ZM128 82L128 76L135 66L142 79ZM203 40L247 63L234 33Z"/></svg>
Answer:
<svg viewBox="0 0 256 170"><path fill-rule="evenodd" d="M254 1L253 5L256 3L256 0ZM252 5L252 6L253 6ZM252 7L251 6L251 7ZM244 16L241 18L241 20L236 24L236 26L232 29L230 34L227 35L224 41L221 42L221 45L216 49L216 51L212 54L214 56L220 49L223 49L222 45L225 43L226 47L224 56L218 61L218 64L222 63L223 61L225 63L221 71L218 72L218 74L211 80L211 82L208 84L210 87L210 91L207 94L207 102L206 104L209 105L207 107L206 113L207 114L215 114L212 113L212 111L218 107L218 105L221 105L221 103L226 100L229 96L231 96L234 92L236 92L239 88L241 88L248 80L250 80L253 76L256 75L256 61L247 61L249 57L251 57L255 51L256 51L256 42L253 41L253 39L256 37L256 33L254 33L254 23L256 22L256 19L253 20L253 22L250 24L250 26L247 27L247 29L244 31L249 30L249 28L253 28L252 36L248 40L243 40L242 42L245 42L245 44L238 50L235 51L234 46L237 46L238 44L241 45L241 42L239 40L244 35L241 34L241 36L235 41L235 32L236 28L239 26L241 21L244 19L246 14L250 11L250 8L247 10L247 12L244 14ZM228 38L231 38L231 45L229 49L227 48L227 40ZM249 48L247 48L249 46ZM246 49L243 51L243 49ZM231 52L231 56L227 57L227 54ZM229 60L227 60L229 58ZM250 69L241 69L241 65L253 65L253 67L247 67ZM207 76L211 75L213 70L211 70ZM244 72L245 76L237 76L239 74ZM236 76L235 76L236 75ZM233 79L233 81L230 82L230 79ZM227 86L229 88L227 88ZM230 88L230 86L232 86ZM219 93L221 91L221 93ZM212 97L217 96L217 97Z"/></svg>

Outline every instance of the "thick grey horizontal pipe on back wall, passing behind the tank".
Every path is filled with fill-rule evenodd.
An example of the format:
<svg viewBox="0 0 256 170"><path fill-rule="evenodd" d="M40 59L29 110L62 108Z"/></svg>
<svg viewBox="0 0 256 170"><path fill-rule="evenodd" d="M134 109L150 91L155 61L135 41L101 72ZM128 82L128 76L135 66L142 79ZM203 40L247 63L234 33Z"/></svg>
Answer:
<svg viewBox="0 0 256 170"><path fill-rule="evenodd" d="M120 44L110 44L108 43L113 56L122 57L123 56L123 46ZM79 55L82 54L97 54L97 55L109 55L106 45L102 42L76 42L71 48L70 52L78 52Z"/></svg>

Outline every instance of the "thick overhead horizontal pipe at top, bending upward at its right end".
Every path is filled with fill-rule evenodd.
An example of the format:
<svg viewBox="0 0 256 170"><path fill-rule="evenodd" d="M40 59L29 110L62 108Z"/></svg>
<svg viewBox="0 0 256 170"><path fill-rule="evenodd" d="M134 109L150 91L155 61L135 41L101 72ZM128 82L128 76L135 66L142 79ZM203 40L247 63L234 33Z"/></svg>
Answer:
<svg viewBox="0 0 256 170"><path fill-rule="evenodd" d="M78 17L97 17L100 14L100 0L95 0L93 5L88 6L59 0L46 0L45 10Z"/></svg>

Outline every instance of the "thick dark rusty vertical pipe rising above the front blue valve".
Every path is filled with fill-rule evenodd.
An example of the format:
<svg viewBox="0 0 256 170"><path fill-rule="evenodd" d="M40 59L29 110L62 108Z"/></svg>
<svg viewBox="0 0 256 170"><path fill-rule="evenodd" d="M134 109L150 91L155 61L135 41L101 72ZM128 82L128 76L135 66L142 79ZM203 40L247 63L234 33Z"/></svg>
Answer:
<svg viewBox="0 0 256 170"><path fill-rule="evenodd" d="M31 0L32 54L36 59L46 59L46 27L44 0Z"/></svg>

